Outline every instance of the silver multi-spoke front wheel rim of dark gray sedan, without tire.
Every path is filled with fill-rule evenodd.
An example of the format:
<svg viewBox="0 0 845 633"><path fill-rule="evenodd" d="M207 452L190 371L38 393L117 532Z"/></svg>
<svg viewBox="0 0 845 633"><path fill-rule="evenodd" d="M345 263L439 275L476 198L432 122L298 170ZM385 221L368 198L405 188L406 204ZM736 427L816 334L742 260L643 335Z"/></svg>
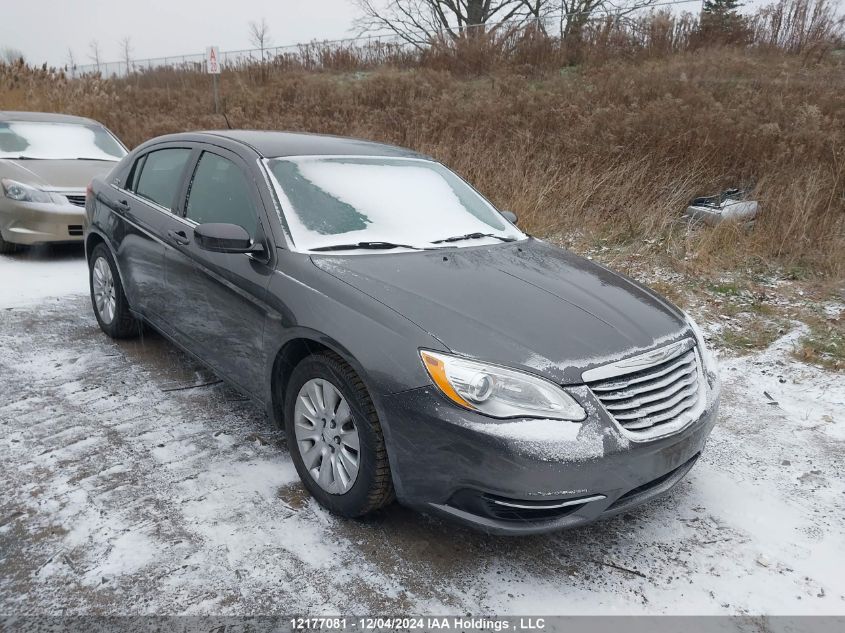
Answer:
<svg viewBox="0 0 845 633"><path fill-rule="evenodd" d="M360 466L360 438L346 398L328 380L302 385L294 407L296 444L308 473L330 494L345 494Z"/></svg>

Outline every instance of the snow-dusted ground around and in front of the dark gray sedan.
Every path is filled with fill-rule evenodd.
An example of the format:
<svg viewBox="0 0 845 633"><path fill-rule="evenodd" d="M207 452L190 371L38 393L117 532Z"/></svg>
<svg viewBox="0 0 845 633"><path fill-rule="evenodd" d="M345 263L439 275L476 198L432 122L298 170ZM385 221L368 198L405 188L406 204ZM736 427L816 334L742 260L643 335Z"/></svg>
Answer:
<svg viewBox="0 0 845 633"><path fill-rule="evenodd" d="M671 495L503 539L328 515L261 411L156 336L100 333L81 254L0 280L0 613L845 613L845 380L790 358L800 324L722 359Z"/></svg>

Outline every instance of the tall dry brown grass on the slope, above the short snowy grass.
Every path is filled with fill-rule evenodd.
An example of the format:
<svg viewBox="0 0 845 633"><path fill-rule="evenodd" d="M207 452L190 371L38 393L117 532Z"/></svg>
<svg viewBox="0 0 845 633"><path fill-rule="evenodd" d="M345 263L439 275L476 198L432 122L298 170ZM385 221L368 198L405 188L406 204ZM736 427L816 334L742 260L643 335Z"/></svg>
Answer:
<svg viewBox="0 0 845 633"><path fill-rule="evenodd" d="M225 72L238 128L397 143L435 156L542 236L659 251L706 269L845 271L845 59L710 48L656 59L456 76L428 68ZM0 66L0 109L96 118L128 145L218 129L210 78ZM752 187L753 230L689 231L687 201ZM716 260L716 261L713 261ZM803 274L803 273L802 273Z"/></svg>

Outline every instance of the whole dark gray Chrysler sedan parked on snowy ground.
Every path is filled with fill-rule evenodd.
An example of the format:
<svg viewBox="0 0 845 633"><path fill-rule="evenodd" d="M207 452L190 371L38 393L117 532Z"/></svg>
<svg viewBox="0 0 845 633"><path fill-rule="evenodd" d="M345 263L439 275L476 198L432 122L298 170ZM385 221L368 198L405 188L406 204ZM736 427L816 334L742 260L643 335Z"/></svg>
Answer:
<svg viewBox="0 0 845 633"><path fill-rule="evenodd" d="M340 515L397 498L489 532L571 527L671 489L716 421L688 316L410 150L165 136L87 211L102 330L149 324L263 405Z"/></svg>

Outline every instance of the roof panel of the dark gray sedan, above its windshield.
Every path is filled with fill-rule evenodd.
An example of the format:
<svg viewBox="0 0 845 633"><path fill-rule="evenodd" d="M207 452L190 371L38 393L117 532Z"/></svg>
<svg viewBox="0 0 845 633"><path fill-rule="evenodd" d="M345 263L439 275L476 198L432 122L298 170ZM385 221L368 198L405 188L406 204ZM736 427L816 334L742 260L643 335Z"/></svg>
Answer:
<svg viewBox="0 0 845 633"><path fill-rule="evenodd" d="M224 137L250 146L265 158L285 156L384 156L424 158L418 152L396 145L362 139L303 132L267 130L214 130L196 133L200 136Z"/></svg>

